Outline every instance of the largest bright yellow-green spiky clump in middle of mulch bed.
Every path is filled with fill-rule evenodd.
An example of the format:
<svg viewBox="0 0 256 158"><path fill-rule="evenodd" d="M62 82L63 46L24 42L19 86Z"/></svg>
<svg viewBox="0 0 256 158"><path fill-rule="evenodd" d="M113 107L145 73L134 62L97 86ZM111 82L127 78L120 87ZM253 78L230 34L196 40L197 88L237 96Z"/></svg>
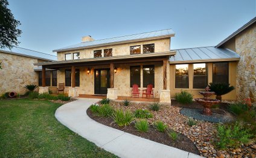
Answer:
<svg viewBox="0 0 256 158"><path fill-rule="evenodd" d="M113 119L119 126L129 125L133 121L133 114L129 110L115 110L113 113Z"/></svg>

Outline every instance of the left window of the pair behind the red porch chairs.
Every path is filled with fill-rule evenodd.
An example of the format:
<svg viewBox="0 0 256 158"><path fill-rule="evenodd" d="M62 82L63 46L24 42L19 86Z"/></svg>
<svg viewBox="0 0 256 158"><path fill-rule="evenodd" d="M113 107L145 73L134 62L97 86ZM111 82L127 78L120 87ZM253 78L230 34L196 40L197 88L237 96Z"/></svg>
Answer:
<svg viewBox="0 0 256 158"><path fill-rule="evenodd" d="M141 87L141 66L130 66L130 87L133 84Z"/></svg>

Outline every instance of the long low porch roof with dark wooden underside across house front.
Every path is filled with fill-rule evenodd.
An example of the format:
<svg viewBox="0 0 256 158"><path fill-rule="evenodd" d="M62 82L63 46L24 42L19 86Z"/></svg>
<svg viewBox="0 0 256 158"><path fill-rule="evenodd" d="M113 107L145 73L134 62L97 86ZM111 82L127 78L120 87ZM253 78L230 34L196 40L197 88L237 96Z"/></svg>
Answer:
<svg viewBox="0 0 256 158"><path fill-rule="evenodd" d="M175 55L176 51L168 52L154 52L149 54L135 54L135 55L118 55L112 57L98 57L98 58L82 58L76 60L62 60L54 62L34 63L35 66L43 66L45 68L63 68L68 66L92 66L92 65L106 65L110 63L138 63L138 62L158 62Z"/></svg>

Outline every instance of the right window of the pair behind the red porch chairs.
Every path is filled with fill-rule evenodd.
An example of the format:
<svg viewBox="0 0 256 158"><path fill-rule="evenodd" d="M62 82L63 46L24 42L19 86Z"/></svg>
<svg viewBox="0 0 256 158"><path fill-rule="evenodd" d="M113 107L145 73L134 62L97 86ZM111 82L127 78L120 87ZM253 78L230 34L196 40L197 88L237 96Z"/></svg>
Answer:
<svg viewBox="0 0 256 158"><path fill-rule="evenodd" d="M143 87L147 87L148 84L155 86L155 66L145 65L143 66Z"/></svg>

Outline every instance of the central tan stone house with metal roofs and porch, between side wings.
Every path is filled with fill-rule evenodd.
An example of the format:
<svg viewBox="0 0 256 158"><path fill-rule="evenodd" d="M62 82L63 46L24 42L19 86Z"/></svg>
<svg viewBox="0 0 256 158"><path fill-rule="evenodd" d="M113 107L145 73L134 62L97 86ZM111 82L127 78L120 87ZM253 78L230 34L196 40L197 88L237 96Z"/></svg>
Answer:
<svg viewBox="0 0 256 158"><path fill-rule="evenodd" d="M170 103L176 92L188 90L198 96L211 82L235 86L239 56L230 49L204 47L170 50L173 30L152 31L110 39L82 38L77 45L54 50L58 61L42 66L42 87L48 92L45 69L57 70L57 83L65 83L69 96L131 96L132 85L146 89L153 84L153 96ZM142 96L142 94L140 94ZM235 100L235 91L223 99Z"/></svg>

